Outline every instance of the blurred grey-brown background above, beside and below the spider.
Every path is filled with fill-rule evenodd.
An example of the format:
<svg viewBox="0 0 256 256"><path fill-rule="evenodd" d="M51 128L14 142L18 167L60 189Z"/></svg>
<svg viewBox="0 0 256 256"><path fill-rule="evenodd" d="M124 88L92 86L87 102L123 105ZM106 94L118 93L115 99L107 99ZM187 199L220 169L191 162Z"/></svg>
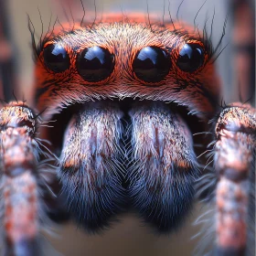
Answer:
<svg viewBox="0 0 256 256"><path fill-rule="evenodd" d="M16 97L33 101L33 60L30 43L30 33L27 28L27 15L30 16L37 35L48 30L50 15L58 13L58 6L70 6L73 16L80 18L82 8L80 0L0 0L0 85L4 89L0 91L0 98L9 100L12 98L12 90ZM181 4L180 0L84 0L86 15L96 14L98 17L105 13L143 13L162 19L165 6L165 15L170 12L176 17L176 12ZM218 44L221 37L225 17L229 15L226 27L226 35L222 41L222 48L226 48L217 59L219 75L223 83L222 98L226 102L238 101L239 94L242 101L255 101L255 32L254 32L254 1L204 1L185 0L179 8L179 19L193 25L196 23L203 28L208 18L208 31L215 9L213 25L213 45ZM203 6L202 6L203 5ZM199 11L198 15L197 12ZM40 10L40 15L38 10ZM40 17L41 16L41 17ZM42 28L42 22L44 27ZM254 46L254 48L253 48ZM119 223L114 223L111 230L101 235L89 236L77 229L72 223L59 227L56 235L47 236L52 246L63 255L191 255L197 247L198 240L191 240L197 234L199 226L193 226L202 213L202 206L197 205L191 212L187 222L177 233L170 236L157 236L152 229L133 215L122 216ZM205 211L206 208L203 208ZM52 252L53 253L53 252ZM48 255L51 255L49 253Z"/></svg>

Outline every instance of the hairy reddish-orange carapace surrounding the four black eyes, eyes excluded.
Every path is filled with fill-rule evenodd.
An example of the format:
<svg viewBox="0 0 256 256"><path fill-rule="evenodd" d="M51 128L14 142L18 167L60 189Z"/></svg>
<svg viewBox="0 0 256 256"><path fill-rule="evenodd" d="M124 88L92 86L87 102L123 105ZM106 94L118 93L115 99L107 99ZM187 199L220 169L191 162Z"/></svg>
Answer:
<svg viewBox="0 0 256 256"><path fill-rule="evenodd" d="M178 67L179 52L185 45L195 46L200 56L195 67L190 67L191 71ZM53 46L63 50L63 57L65 54L67 67L63 71L51 69L44 59L47 48ZM106 49L113 58L109 74L100 80L83 79L80 75L83 50L93 47ZM146 47L160 48L169 59L163 79L144 80L136 75L134 59ZM102 18L93 25L59 27L49 33L35 50L37 107L39 110L47 107L45 116L60 112L72 101L124 98L175 101L199 116L200 112L214 112L216 108L219 95L219 79L213 65L216 50L207 35L200 34L195 27L180 23L153 23L149 26L143 17ZM57 54L57 49L55 51ZM158 66L164 72L163 67ZM151 68L147 67L149 72ZM194 95L192 99L191 94Z"/></svg>

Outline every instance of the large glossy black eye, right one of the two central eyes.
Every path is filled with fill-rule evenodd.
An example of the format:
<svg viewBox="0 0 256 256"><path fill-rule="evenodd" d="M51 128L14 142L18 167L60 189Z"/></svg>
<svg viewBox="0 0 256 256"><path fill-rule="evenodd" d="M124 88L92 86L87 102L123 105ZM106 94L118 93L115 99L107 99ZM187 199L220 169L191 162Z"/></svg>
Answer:
<svg viewBox="0 0 256 256"><path fill-rule="evenodd" d="M138 79L146 82L163 80L171 68L171 60L162 48L141 49L133 60L133 71Z"/></svg>

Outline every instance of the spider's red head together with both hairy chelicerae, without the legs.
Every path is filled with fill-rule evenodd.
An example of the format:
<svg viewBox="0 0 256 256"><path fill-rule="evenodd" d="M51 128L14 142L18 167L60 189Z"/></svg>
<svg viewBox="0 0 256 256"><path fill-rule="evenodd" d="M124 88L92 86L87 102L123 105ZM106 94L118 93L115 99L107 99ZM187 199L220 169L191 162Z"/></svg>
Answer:
<svg viewBox="0 0 256 256"><path fill-rule="evenodd" d="M157 229L175 228L198 176L191 129L219 92L206 35L122 17L53 31L41 45L37 106L58 121L48 138L70 212L101 229L129 202Z"/></svg>

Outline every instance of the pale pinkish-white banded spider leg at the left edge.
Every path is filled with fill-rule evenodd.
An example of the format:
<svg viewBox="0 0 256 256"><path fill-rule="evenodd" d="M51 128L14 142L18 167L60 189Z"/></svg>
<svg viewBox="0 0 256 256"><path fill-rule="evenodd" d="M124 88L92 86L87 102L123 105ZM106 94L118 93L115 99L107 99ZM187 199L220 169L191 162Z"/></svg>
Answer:
<svg viewBox="0 0 256 256"><path fill-rule="evenodd" d="M0 111L1 208L5 255L37 255L42 224L41 154L35 138L38 117L24 102Z"/></svg>

